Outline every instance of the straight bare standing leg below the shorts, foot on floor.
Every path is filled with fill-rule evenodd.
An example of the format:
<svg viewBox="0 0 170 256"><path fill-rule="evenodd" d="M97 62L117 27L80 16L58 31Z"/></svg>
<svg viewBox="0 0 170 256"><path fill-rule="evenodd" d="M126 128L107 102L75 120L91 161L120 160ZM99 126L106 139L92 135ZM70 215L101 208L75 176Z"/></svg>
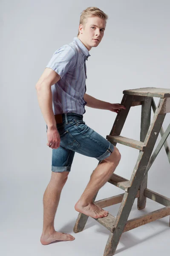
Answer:
<svg viewBox="0 0 170 256"><path fill-rule="evenodd" d="M50 244L53 241L74 240L71 235L59 233L54 228L54 218L60 200L61 190L66 183L69 172L52 172L51 180L43 196L43 232L41 244Z"/></svg>

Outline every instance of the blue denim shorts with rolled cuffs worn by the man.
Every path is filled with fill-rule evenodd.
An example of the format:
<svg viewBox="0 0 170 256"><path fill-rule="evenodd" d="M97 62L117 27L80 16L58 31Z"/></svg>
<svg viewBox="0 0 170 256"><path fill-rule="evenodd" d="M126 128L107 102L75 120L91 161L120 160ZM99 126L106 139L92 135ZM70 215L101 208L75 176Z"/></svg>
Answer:
<svg viewBox="0 0 170 256"><path fill-rule="evenodd" d="M63 122L57 124L60 146L52 148L52 172L70 172L75 152L99 161L109 157L114 145L87 126L83 115L63 113L62 118Z"/></svg>

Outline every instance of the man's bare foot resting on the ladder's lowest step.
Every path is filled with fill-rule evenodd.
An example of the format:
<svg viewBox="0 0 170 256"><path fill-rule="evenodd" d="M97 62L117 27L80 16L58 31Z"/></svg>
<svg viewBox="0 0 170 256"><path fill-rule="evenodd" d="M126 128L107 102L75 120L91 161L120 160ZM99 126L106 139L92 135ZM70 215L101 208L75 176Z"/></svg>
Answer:
<svg viewBox="0 0 170 256"><path fill-rule="evenodd" d="M75 204L75 210L77 212L84 213L85 215L90 216L92 218L103 218L109 214L109 212L105 211L104 209L98 207L93 203L88 204L87 206L83 206L81 201L78 201Z"/></svg>

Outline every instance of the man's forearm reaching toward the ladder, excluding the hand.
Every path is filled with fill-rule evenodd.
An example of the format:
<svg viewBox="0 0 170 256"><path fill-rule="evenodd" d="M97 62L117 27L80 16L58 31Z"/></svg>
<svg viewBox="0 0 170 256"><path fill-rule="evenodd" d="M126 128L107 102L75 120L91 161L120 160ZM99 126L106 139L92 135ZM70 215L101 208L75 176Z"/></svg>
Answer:
<svg viewBox="0 0 170 256"><path fill-rule="evenodd" d="M96 99L88 94L84 94L84 100L87 102L86 106L90 108L98 109L109 109L109 102L104 102L102 100Z"/></svg>

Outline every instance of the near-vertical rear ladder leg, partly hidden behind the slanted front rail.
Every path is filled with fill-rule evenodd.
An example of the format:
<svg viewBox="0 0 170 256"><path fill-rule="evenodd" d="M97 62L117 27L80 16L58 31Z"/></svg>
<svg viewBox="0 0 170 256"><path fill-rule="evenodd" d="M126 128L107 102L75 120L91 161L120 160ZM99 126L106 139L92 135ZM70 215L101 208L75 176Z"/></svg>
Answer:
<svg viewBox="0 0 170 256"><path fill-rule="evenodd" d="M144 101L142 102L142 109L141 109L141 134L140 134L141 142L144 142L145 137L147 135L147 131L150 127L151 103L152 103L152 97L144 97ZM147 188L147 175L145 175L139 188L140 197L138 198L138 210L144 209L146 206L147 198L144 196L144 190L146 188Z"/></svg>

